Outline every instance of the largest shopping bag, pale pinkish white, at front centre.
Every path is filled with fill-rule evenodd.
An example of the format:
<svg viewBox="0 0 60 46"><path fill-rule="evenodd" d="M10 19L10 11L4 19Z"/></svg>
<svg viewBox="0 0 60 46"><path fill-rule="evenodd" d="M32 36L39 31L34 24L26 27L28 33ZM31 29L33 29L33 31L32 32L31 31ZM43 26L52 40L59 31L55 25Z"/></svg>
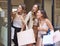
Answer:
<svg viewBox="0 0 60 46"><path fill-rule="evenodd" d="M27 29L17 33L18 46L35 43L33 29Z"/></svg>

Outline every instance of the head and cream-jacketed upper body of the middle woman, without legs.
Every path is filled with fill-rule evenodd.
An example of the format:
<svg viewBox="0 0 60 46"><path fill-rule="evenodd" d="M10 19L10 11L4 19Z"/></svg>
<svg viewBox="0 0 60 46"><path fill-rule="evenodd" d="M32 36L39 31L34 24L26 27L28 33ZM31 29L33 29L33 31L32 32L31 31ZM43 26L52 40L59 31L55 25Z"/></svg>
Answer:
<svg viewBox="0 0 60 46"><path fill-rule="evenodd" d="M34 4L32 10L27 14L25 21L28 24L29 29L33 28L33 21L36 18L36 12L39 10L39 5ZM29 23L28 23L29 21Z"/></svg>

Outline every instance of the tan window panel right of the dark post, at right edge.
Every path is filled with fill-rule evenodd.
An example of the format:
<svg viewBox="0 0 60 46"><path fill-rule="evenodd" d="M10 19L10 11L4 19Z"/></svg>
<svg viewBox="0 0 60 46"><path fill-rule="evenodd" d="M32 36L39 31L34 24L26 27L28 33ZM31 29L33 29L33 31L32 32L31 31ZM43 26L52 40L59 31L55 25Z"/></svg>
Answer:
<svg viewBox="0 0 60 46"><path fill-rule="evenodd" d="M60 0L55 0L55 13L54 13L54 20L55 20L55 27L60 28Z"/></svg>

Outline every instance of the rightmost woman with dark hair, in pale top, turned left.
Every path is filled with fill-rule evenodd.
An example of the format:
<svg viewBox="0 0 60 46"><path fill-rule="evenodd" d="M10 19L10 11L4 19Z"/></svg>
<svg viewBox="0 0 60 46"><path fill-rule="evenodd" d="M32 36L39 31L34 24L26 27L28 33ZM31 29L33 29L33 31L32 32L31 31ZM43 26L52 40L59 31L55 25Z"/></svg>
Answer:
<svg viewBox="0 0 60 46"><path fill-rule="evenodd" d="M38 10L36 15L39 20L37 46L43 46L42 35L46 34L48 29L50 29L50 31L54 29L44 10Z"/></svg>

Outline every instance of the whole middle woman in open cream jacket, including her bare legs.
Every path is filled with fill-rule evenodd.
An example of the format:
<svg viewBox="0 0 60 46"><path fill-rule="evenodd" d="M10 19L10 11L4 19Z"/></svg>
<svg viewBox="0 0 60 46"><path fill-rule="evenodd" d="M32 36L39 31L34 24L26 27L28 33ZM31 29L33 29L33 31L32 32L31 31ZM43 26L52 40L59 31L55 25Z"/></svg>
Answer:
<svg viewBox="0 0 60 46"><path fill-rule="evenodd" d="M36 19L36 12L39 9L39 5L38 4L34 4L32 7L32 10L27 14L26 18L25 18L25 22L28 25L29 29L34 28L34 33L35 36L37 36L37 30L35 30L35 28L37 28L37 24L34 24L34 21ZM35 25L35 26L34 26ZM33 46L33 43L28 44L28 46Z"/></svg>

